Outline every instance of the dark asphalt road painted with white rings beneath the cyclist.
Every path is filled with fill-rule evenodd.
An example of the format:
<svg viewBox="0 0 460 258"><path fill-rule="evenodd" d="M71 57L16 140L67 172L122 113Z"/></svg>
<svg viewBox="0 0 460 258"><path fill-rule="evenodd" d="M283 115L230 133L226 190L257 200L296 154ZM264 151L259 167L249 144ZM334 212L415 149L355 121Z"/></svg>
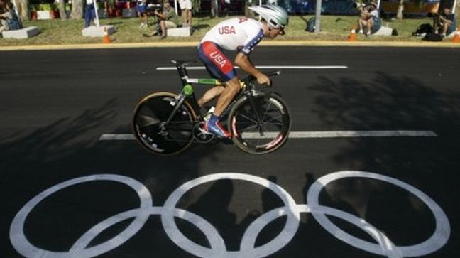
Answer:
<svg viewBox="0 0 460 258"><path fill-rule="evenodd" d="M459 48L251 54L347 67L281 69L270 90L288 102L292 131L436 136L289 139L263 156L217 142L167 158L99 137L131 133L143 95L179 91L177 72L156 68L198 60L196 48L1 55L1 257L460 254Z"/></svg>

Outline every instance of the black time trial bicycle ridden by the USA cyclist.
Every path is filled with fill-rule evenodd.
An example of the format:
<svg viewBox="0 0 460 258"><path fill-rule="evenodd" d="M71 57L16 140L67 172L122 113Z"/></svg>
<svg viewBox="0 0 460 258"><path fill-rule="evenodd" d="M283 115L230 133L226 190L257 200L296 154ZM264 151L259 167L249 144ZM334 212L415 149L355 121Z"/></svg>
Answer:
<svg viewBox="0 0 460 258"><path fill-rule="evenodd" d="M133 112L133 133L141 146L153 154L179 154L192 142L209 143L214 134L204 131L207 117L197 104L192 84L224 85L215 79L192 79L187 65L193 61L172 60L182 82L182 91L153 92L143 97ZM268 76L280 75L280 71ZM249 75L240 81L241 90L221 114L221 122L231 132L231 139L250 154L267 154L280 148L290 132L288 105L275 92L256 90L256 78Z"/></svg>

